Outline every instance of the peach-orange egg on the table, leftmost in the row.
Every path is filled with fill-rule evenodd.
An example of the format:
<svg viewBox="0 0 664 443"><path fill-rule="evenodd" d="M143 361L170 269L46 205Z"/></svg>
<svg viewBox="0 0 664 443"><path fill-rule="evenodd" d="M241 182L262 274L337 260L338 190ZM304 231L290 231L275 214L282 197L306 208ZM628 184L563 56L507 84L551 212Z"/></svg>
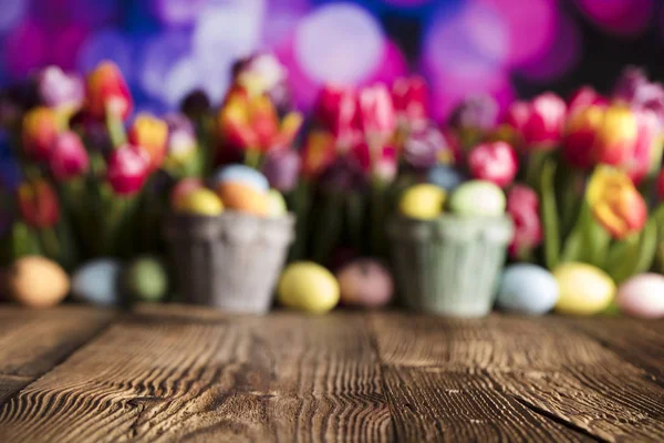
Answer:
<svg viewBox="0 0 664 443"><path fill-rule="evenodd" d="M55 261L44 257L19 258L6 275L11 298L28 308L50 308L60 303L70 290L70 279Z"/></svg>

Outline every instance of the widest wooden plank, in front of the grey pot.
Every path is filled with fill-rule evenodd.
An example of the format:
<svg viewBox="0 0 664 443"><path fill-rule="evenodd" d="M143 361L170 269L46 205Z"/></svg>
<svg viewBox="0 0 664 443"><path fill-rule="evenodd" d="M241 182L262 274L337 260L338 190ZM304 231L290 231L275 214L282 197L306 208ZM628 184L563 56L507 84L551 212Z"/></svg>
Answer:
<svg viewBox="0 0 664 443"><path fill-rule="evenodd" d="M21 391L0 441L393 440L362 316L168 317L114 323Z"/></svg>

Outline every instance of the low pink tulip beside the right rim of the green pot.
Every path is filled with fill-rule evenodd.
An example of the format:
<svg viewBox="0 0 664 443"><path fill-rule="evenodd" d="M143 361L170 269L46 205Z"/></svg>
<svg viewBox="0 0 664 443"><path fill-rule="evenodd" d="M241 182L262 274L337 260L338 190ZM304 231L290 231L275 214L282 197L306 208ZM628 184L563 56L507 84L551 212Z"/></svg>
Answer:
<svg viewBox="0 0 664 443"><path fill-rule="evenodd" d="M537 193L528 186L515 185L507 193L507 214L515 224L509 255L517 259L527 257L543 238Z"/></svg>

